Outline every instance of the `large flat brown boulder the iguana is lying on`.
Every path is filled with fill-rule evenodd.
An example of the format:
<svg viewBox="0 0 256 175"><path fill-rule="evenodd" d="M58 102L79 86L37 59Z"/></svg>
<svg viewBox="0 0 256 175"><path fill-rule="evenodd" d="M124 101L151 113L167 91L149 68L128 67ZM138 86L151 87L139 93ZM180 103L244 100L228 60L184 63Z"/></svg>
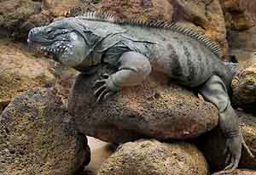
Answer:
<svg viewBox="0 0 256 175"><path fill-rule="evenodd" d="M162 74L95 104L92 85L108 71L100 67L95 75L79 75L69 96L68 110L85 135L113 143L145 137L183 139L218 124L218 110L212 104L169 83Z"/></svg>

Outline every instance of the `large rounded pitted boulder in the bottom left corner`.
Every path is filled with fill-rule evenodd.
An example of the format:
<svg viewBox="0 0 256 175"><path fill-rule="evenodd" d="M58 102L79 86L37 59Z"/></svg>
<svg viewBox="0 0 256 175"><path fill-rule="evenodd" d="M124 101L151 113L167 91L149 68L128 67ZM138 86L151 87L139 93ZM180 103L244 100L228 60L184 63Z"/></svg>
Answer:
<svg viewBox="0 0 256 175"><path fill-rule="evenodd" d="M0 116L0 138L3 175L69 175L90 161L87 138L49 89L34 88L9 104Z"/></svg>

